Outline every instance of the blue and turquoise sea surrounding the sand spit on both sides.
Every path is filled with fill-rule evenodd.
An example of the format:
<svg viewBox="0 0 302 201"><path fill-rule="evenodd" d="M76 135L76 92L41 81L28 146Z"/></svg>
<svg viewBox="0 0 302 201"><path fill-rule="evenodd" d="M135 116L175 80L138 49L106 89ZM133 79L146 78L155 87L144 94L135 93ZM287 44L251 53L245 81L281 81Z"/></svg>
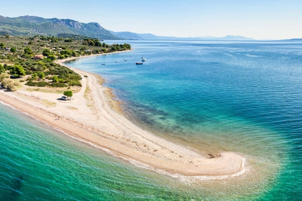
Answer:
<svg viewBox="0 0 302 201"><path fill-rule="evenodd" d="M0 200L301 199L302 42L105 42L134 50L68 65L102 75L127 118L156 135L244 155L246 176L161 175L0 104Z"/></svg>

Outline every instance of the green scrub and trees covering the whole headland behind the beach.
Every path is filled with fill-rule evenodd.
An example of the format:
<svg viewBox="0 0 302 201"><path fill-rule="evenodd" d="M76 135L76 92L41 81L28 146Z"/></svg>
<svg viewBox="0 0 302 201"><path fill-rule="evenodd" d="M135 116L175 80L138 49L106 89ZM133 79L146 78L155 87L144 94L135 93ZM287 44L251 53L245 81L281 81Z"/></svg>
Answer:
<svg viewBox="0 0 302 201"><path fill-rule="evenodd" d="M127 43L108 45L96 38L71 36L73 37L0 36L0 74L6 72L11 75L11 78L26 76L24 80L27 81L25 84L28 86L81 86L82 78L79 74L54 61L131 49ZM15 89L15 86L18 86L16 82L10 83L12 80L7 75L2 76L2 80L7 88Z"/></svg>

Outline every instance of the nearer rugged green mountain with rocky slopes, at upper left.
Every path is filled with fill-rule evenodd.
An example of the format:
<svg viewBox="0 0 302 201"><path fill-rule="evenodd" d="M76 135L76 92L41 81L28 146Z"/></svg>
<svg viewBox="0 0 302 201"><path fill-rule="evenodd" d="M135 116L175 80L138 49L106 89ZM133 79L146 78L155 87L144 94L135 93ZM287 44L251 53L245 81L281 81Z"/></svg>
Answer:
<svg viewBox="0 0 302 201"><path fill-rule="evenodd" d="M25 34L58 35L62 33L94 37L98 39L120 39L96 22L80 23L70 19L46 19L37 16L4 17L0 15L0 35Z"/></svg>

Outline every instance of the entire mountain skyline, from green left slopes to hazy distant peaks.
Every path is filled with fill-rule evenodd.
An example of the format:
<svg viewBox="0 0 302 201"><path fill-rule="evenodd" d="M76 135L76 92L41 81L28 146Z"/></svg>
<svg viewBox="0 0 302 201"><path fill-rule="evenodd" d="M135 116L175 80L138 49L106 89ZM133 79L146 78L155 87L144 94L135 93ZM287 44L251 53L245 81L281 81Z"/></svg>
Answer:
<svg viewBox="0 0 302 201"><path fill-rule="evenodd" d="M0 15L0 35L82 35L105 40L135 39L135 40L255 40L244 36L227 35L224 37L173 37L156 36L151 33L133 33L128 31L114 32L106 30L96 22L81 23L76 20L37 16L4 17ZM301 39L287 39L301 40Z"/></svg>

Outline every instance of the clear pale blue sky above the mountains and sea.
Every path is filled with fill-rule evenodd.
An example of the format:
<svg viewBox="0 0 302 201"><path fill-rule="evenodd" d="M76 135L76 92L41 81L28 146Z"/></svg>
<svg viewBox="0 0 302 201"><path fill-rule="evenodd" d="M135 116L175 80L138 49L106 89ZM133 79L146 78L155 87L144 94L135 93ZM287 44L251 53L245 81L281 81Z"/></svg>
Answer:
<svg viewBox="0 0 302 201"><path fill-rule="evenodd" d="M0 15L98 22L112 31L158 36L241 35L255 39L302 38L302 1L2 1Z"/></svg>

